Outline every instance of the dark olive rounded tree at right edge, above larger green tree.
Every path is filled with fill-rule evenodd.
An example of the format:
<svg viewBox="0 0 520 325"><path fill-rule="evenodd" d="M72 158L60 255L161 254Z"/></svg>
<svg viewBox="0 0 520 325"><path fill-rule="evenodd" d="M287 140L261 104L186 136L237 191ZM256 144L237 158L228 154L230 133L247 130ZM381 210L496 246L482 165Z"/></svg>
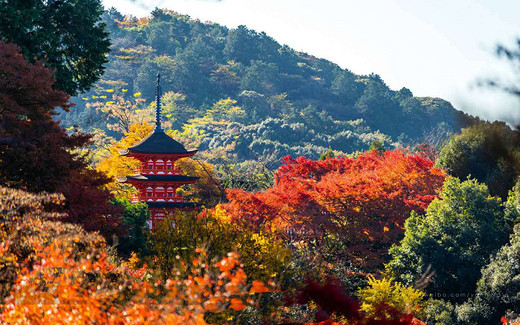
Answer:
<svg viewBox="0 0 520 325"><path fill-rule="evenodd" d="M441 149L437 164L461 179L485 183L491 195L503 200L520 170L520 136L503 122L480 123L453 136Z"/></svg>

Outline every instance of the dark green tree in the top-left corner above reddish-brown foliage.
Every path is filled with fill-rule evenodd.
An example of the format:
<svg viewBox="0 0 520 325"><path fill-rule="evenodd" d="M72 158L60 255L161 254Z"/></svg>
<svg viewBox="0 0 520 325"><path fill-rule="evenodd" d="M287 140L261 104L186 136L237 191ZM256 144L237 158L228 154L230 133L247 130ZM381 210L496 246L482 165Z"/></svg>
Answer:
<svg viewBox="0 0 520 325"><path fill-rule="evenodd" d="M90 89L107 62L102 14L99 0L2 0L0 39L55 70L54 86L74 96Z"/></svg>

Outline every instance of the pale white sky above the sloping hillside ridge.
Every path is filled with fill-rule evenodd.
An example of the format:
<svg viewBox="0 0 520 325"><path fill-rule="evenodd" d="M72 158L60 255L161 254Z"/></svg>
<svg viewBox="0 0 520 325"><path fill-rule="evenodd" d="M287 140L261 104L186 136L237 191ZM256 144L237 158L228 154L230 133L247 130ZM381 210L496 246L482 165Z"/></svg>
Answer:
<svg viewBox="0 0 520 325"><path fill-rule="evenodd" d="M102 2L137 17L159 7L230 28L245 25L354 73L377 73L392 89L406 87L488 120L520 123L520 99L478 86L479 80L515 77L495 48L520 37L518 0Z"/></svg>

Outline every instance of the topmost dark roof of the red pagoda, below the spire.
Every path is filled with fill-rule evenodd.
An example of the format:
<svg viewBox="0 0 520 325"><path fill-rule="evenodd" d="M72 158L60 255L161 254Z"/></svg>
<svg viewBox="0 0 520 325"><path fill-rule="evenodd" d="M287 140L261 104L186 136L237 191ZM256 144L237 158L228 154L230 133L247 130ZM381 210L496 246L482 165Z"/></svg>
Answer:
<svg viewBox="0 0 520 325"><path fill-rule="evenodd" d="M129 153L143 154L195 154L197 150L186 150L182 144L175 141L172 137L164 133L162 129L156 128L149 136L141 140L138 144L119 154L125 156Z"/></svg>

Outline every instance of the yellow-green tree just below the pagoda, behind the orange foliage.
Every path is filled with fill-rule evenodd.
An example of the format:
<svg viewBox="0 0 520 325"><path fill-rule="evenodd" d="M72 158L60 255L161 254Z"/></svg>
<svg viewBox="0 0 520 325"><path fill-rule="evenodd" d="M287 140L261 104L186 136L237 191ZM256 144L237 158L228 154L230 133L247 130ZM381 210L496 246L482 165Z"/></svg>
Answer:
<svg viewBox="0 0 520 325"><path fill-rule="evenodd" d="M268 233L253 234L248 229L235 227L219 207L199 214L178 211L159 224L149 244L150 257L157 261L165 277L172 276L172 270L183 261L196 257L201 247L210 259L236 251L242 256L244 271L259 280L280 279L290 257L290 251L279 239Z"/></svg>

